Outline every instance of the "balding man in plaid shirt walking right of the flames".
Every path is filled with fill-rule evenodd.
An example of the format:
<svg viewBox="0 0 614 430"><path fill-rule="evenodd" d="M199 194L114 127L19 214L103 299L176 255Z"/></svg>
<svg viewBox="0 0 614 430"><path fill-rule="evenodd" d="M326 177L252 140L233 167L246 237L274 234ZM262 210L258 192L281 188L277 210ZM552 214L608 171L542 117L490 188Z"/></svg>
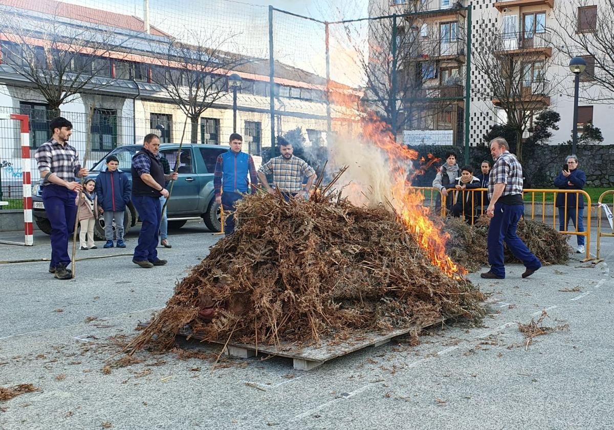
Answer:
<svg viewBox="0 0 614 430"><path fill-rule="evenodd" d="M495 160L488 182L490 203L486 216L491 218L488 228L488 263L491 270L480 276L486 279L505 278L503 240L514 256L526 267L523 278L532 275L542 263L516 234L518 221L524 213L523 167L503 138L492 139L491 154Z"/></svg>

